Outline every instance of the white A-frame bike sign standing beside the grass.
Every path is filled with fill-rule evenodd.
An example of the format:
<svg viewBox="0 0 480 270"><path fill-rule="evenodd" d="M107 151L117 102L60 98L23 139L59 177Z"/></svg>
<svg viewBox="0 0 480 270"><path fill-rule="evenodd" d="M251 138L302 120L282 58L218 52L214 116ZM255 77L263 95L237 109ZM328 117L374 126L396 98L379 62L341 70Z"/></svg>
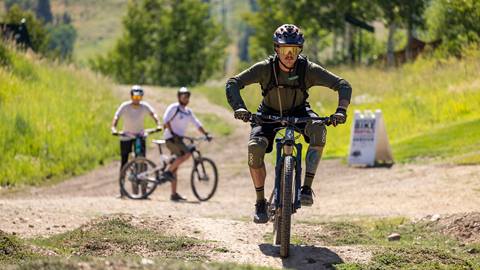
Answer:
<svg viewBox="0 0 480 270"><path fill-rule="evenodd" d="M349 165L393 164L392 150L382 112L355 111L350 140Z"/></svg>

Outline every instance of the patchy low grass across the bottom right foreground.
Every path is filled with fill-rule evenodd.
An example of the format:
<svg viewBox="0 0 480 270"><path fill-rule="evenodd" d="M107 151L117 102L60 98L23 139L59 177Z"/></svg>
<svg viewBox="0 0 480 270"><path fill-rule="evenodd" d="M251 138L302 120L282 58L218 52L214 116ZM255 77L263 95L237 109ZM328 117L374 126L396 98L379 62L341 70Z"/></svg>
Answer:
<svg viewBox="0 0 480 270"><path fill-rule="evenodd" d="M412 223L402 217L361 219L356 222L338 221L318 224L322 230L312 230L302 242L320 241L327 246L360 246L373 251L366 264L344 263L336 269L478 269L480 257L468 250L478 244L462 245L456 239L435 231L426 222ZM399 241L388 241L396 232Z"/></svg>

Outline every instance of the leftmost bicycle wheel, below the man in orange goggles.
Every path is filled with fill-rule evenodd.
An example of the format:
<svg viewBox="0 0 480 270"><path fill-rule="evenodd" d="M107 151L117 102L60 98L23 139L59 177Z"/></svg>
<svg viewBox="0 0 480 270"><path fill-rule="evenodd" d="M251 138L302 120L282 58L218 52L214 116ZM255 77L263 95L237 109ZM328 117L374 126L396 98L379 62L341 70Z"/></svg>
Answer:
<svg viewBox="0 0 480 270"><path fill-rule="evenodd" d="M144 157L136 157L122 167L120 188L133 200L146 199L157 188L158 170L155 163Z"/></svg>

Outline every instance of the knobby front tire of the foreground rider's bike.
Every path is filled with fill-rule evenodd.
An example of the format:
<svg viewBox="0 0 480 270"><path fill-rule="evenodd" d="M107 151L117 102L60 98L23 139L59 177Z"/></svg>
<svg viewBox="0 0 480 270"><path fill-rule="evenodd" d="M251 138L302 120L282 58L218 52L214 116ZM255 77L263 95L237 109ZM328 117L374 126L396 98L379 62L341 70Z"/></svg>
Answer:
<svg viewBox="0 0 480 270"><path fill-rule="evenodd" d="M292 183L295 158L286 156L282 175L282 208L280 214L280 257L288 257L290 250L290 226L292 220Z"/></svg>

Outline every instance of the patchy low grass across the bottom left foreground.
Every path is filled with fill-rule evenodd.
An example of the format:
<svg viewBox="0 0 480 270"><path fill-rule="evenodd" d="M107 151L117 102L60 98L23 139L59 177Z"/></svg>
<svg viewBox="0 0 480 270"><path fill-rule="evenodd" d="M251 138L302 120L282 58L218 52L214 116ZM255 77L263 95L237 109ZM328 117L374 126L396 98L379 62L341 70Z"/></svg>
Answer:
<svg viewBox="0 0 480 270"><path fill-rule="evenodd" d="M1 269L271 269L205 262L211 243L167 236L160 228L140 225L128 215L101 217L73 231L20 239L0 231ZM223 247L213 252L230 252ZM50 254L50 255L47 255ZM56 254L52 256L51 254Z"/></svg>

